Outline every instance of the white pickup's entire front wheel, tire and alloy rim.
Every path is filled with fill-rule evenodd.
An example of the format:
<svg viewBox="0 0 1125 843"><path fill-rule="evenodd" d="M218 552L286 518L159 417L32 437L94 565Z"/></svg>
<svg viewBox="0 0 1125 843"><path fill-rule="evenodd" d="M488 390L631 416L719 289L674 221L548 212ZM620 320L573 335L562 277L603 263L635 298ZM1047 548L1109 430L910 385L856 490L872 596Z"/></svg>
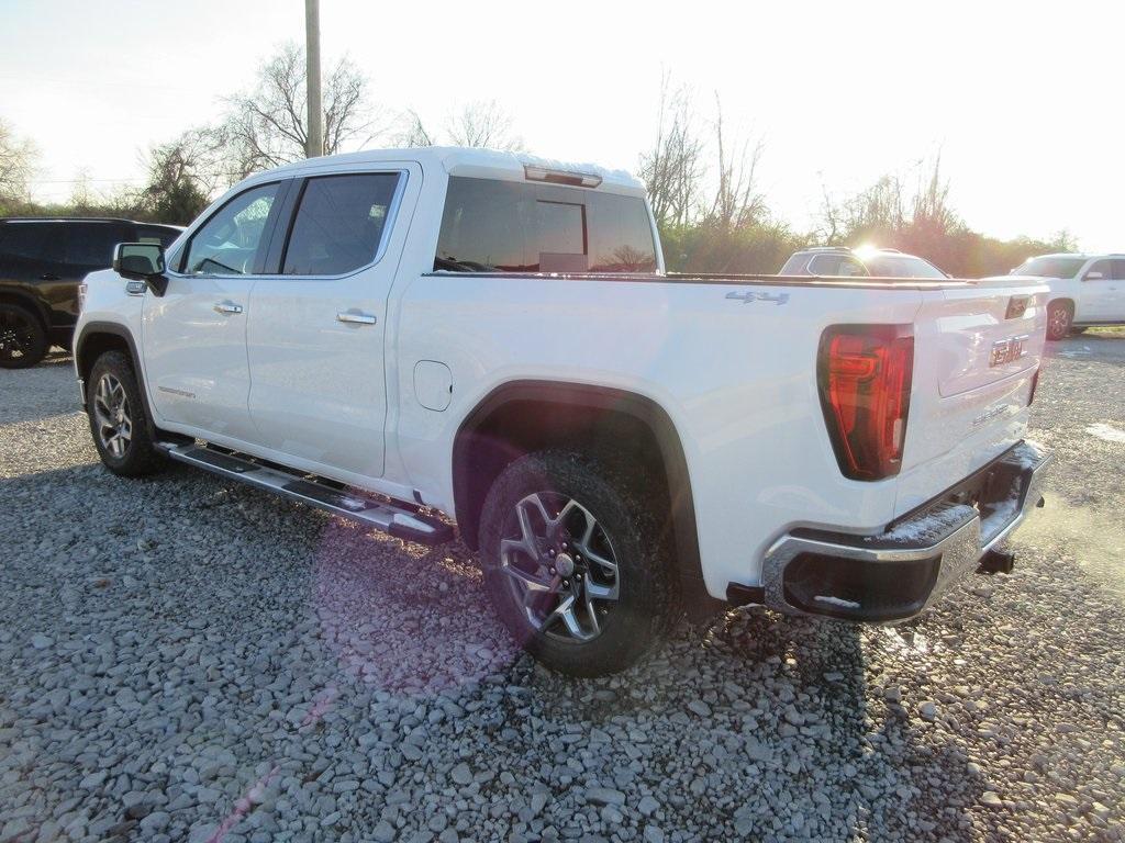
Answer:
<svg viewBox="0 0 1125 843"><path fill-rule="evenodd" d="M124 352L106 352L94 362L86 406L93 444L107 469L141 477L164 468L168 457L148 432L141 386Z"/></svg>

